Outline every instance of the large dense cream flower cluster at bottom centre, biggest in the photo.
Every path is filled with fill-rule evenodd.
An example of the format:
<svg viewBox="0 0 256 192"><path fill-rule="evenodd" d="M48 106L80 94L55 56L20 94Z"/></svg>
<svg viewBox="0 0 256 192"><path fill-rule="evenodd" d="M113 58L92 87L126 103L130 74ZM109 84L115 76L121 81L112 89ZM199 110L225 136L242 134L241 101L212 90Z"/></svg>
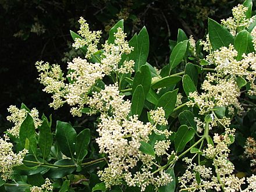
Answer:
<svg viewBox="0 0 256 192"><path fill-rule="evenodd" d="M161 122L166 123L165 112L162 108L151 111L156 124L154 126L151 123L144 124L138 120L137 115L129 116L131 104L129 100L125 101L123 97L124 95L120 95L116 85L109 85L99 93L93 93L87 102L87 105L92 109L91 113L101 112L97 129L99 137L96 138L96 141L99 145L99 152L104 152L109 159L108 167L99 171L98 175L108 188L122 183L123 180L129 186L137 184L141 187L141 191L144 191L148 184L158 187L169 183L171 177L168 174L161 173L155 176L150 172L152 161L155 161L155 158L143 154L139 150L140 141L147 142L148 136L156 129L155 126ZM167 133L163 131L162 134ZM169 140L166 143L159 141L156 144L156 149L161 148L161 151L158 153L156 150L157 155L167 154L166 150L168 150L169 145ZM133 175L131 169L139 161L143 162L144 169Z"/></svg>

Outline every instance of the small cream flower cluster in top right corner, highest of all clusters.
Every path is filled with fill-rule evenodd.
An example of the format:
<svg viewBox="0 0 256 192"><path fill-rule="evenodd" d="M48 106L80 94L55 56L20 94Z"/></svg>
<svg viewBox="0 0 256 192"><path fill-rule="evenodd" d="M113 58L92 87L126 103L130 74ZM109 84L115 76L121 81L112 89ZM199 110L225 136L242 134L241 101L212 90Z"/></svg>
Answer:
<svg viewBox="0 0 256 192"><path fill-rule="evenodd" d="M236 35L237 30L246 29L250 26L254 21L254 16L250 19L246 18L246 12L248 8L243 5L237 5L232 9L233 17L229 17L228 19L222 19L221 23L227 29L229 29L232 35Z"/></svg>

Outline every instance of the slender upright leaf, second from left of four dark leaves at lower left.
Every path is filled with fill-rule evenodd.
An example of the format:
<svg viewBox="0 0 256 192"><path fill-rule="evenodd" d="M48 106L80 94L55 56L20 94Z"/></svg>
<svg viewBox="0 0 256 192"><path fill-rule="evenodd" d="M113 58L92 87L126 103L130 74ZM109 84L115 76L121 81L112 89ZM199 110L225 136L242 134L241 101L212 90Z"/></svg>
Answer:
<svg viewBox="0 0 256 192"><path fill-rule="evenodd" d="M49 127L47 120L44 120L39 127L38 137L38 145L42 151L42 159L47 158L50 154L53 141L54 138L52 137L51 127Z"/></svg>

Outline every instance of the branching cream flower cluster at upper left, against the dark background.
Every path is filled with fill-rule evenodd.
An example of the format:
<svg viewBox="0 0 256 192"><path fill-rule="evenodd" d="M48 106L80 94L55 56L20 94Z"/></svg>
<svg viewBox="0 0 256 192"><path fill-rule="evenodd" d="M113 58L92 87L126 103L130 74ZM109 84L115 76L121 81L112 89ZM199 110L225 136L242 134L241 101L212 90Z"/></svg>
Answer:
<svg viewBox="0 0 256 192"><path fill-rule="evenodd" d="M98 51L97 44L100 38L100 31L89 30L88 24L81 17L79 34L85 39L76 39L74 47L80 48L87 45L87 56ZM74 58L72 62L68 62L67 69L69 72L66 77L63 77L63 72L59 65L49 65L49 63L35 63L38 72L40 72L40 83L44 84L43 91L51 93L53 101L49 104L54 109L60 108L65 102L70 106L70 112L73 116L81 116L81 110L88 102L88 94L95 86L98 80L101 80L105 75L112 72L117 73L133 73L134 61L123 61L122 66L119 66L123 54L130 54L133 47L129 47L125 40L126 33L119 27L114 33L115 42L109 44L105 42L101 58L98 58L97 63L90 63L86 59ZM69 83L66 83L66 81Z"/></svg>

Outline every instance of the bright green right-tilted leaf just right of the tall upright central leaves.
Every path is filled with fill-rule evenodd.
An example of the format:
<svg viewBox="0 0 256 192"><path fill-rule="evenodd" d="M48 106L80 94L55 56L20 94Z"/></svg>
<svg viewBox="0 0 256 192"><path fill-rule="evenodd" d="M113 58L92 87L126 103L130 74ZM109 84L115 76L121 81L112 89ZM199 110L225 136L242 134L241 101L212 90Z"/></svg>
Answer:
<svg viewBox="0 0 256 192"><path fill-rule="evenodd" d="M187 40L179 42L174 48L172 53L170 54L169 64L170 64L170 70L169 74L172 69L175 69L177 65L179 65L180 62L182 62L182 59L186 53L187 50Z"/></svg>

